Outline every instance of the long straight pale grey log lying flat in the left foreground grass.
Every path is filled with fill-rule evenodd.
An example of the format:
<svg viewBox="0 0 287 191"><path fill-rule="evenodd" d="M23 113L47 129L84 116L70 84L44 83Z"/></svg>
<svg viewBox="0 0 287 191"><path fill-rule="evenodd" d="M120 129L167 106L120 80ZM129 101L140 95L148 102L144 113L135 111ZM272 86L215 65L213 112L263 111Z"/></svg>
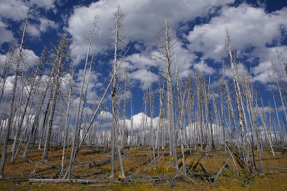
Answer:
<svg viewBox="0 0 287 191"><path fill-rule="evenodd" d="M119 183L119 179L94 179L94 180L82 180L82 179L29 179L29 184L33 183L79 183L79 184L92 184L97 182L114 182Z"/></svg>

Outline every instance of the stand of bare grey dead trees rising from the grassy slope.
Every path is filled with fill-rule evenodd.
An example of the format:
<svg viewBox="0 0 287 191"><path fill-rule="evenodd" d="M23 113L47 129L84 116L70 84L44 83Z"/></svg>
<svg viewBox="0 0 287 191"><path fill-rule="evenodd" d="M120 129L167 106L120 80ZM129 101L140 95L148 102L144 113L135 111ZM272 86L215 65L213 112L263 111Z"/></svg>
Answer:
<svg viewBox="0 0 287 191"><path fill-rule="evenodd" d="M42 148L42 160L45 161L50 144L63 148L61 173L65 172L64 179L70 178L73 162L83 144L111 149L110 178L114 176L115 155L119 156L122 176L125 176L121 148L126 145L150 146L154 169L157 166L156 149L166 147L170 148L173 166L178 169L177 148L180 146L186 173L185 149L191 152L199 147L203 151L205 146L210 146L207 148L214 150L217 145L222 145L226 151L228 144L234 144L250 174L253 174L253 167L257 169L258 165L253 151L256 149L259 153L259 171L263 173L260 157L262 145L268 144L274 154L274 144L284 146L286 143L287 66L282 53L276 51L280 69L272 61L269 71L272 97L264 106L252 76L243 63L236 60L227 27L227 54L220 74L212 79L210 76L207 78L197 68L189 71L182 80L177 71L177 65L181 63L176 59L175 50L179 39L172 35L166 20L156 33L153 47L158 53L154 57L163 62L161 68L154 70L162 76L162 80L157 85L149 82L147 88L143 88L144 106L141 122L138 122L133 119L129 71L122 68L129 50L124 18L125 14L117 5L111 18L113 43L107 46L113 46L113 51L108 53L109 61L113 62L113 71L102 95L95 95L87 102L95 60L95 53L89 57L90 47L99 17L95 16L90 38L87 38L84 69L76 74L77 60L71 53L73 47L67 34L45 47L33 67L28 65L30 61L25 55L30 26L28 13L18 46L11 45L5 62L1 63L0 142L3 142L3 151L0 177L3 177L7 152L11 153L11 161L14 162L18 155L27 159L29 149ZM106 96L107 92L111 94L111 101ZM128 105L131 106L130 120L126 119ZM278 113L279 107L284 110L283 117ZM22 145L25 145L24 149ZM70 145L72 152L69 157L65 151ZM64 170L67 159L69 166Z"/></svg>

